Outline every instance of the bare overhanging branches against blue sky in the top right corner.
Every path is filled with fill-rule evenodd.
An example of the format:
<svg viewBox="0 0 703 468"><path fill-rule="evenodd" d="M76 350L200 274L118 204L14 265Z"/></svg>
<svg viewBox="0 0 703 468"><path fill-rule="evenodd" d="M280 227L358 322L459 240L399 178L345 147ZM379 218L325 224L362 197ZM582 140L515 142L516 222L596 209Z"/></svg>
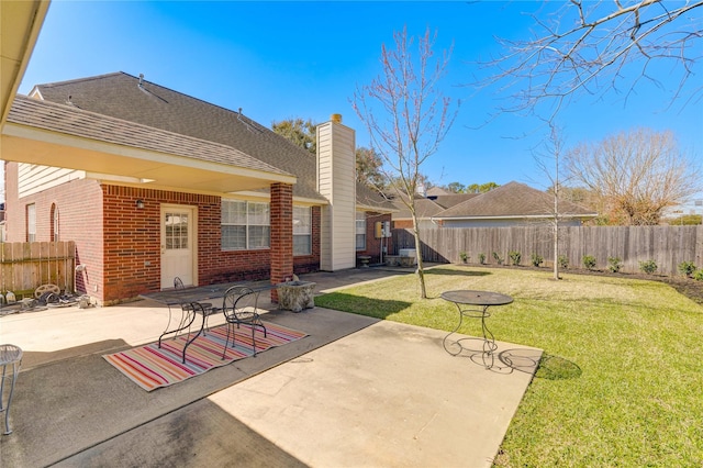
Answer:
<svg viewBox="0 0 703 468"><path fill-rule="evenodd" d="M550 121L578 93L602 97L614 90L629 96L640 80L663 88L652 70L655 62L672 63L667 75L678 74L673 100L702 58L703 16L696 13L703 1L570 0L548 11L553 4L545 2L532 14L536 30L531 38L499 38L506 54L483 64L499 71L481 85L501 82L515 98L502 111L538 112L538 104L546 104ZM638 73L631 75L631 66ZM687 99L700 99L702 91L694 83Z"/></svg>

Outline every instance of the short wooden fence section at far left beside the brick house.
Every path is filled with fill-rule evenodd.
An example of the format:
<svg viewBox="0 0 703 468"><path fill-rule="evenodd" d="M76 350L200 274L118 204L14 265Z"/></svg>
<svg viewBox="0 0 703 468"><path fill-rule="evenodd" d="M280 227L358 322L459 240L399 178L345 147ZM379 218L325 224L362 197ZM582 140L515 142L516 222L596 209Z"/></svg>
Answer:
<svg viewBox="0 0 703 468"><path fill-rule="evenodd" d="M0 243L0 292L31 296L42 285L75 291L76 243Z"/></svg>

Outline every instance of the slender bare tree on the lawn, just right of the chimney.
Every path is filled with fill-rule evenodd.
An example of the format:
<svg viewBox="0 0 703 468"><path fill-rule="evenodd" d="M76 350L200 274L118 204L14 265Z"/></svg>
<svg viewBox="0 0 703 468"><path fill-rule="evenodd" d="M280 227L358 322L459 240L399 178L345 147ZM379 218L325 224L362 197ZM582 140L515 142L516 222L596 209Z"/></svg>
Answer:
<svg viewBox="0 0 703 468"><path fill-rule="evenodd" d="M383 158L382 171L389 186L412 215L424 299L427 292L414 196L421 185L420 168L436 153L456 116L449 98L439 89L451 51L435 59L436 34L431 35L428 29L415 38L409 37L404 27L393 38L394 48L381 48L381 74L370 85L357 87L352 104L369 132L371 148ZM411 51L415 41L416 55Z"/></svg>

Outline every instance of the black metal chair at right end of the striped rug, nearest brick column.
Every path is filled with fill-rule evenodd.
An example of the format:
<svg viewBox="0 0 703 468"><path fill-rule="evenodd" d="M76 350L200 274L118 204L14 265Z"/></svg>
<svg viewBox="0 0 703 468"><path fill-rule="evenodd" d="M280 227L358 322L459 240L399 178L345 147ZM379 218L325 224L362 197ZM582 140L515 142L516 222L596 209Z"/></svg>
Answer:
<svg viewBox="0 0 703 468"><path fill-rule="evenodd" d="M266 336L266 326L264 326L257 309L258 299L259 291L254 291L247 287L234 286L225 291L222 300L222 311L227 323L227 338L222 350L223 359L227 353L230 334L232 334L232 347L234 347L236 335L234 326L236 325L238 328L243 323L252 326L252 346L254 347L254 356L256 356L256 328L264 330L264 336Z"/></svg>

